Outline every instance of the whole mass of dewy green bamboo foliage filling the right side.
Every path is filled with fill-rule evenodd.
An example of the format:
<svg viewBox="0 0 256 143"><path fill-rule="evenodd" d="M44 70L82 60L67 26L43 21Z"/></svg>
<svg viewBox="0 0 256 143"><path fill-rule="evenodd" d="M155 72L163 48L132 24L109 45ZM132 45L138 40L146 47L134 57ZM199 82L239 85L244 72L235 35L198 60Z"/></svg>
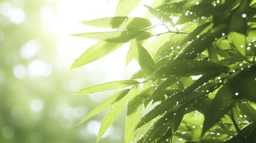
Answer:
<svg viewBox="0 0 256 143"><path fill-rule="evenodd" d="M98 42L72 69L127 42L126 64L135 58L141 67L77 93L123 89L82 120L109 107L97 141L127 104L125 142L256 142L256 1L156 0L144 5L151 16L128 17L138 4L121 0L116 17L81 22L113 30L74 35ZM166 32L153 33L158 26Z"/></svg>

